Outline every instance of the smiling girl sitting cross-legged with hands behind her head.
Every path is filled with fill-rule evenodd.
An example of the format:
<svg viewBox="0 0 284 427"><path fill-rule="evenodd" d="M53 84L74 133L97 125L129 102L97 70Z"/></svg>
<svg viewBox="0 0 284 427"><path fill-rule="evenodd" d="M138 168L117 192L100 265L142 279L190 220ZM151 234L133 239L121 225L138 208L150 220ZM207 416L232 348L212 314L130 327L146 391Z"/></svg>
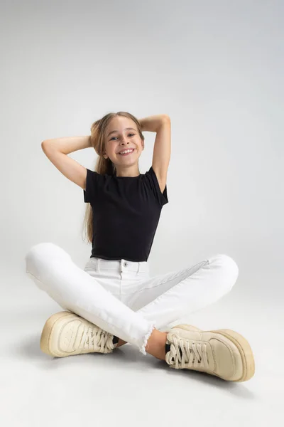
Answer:
<svg viewBox="0 0 284 427"><path fill-rule="evenodd" d="M142 131L156 132L152 165L138 168ZM93 147L96 171L67 154ZM55 357L111 353L129 342L175 369L192 369L227 381L254 374L249 342L232 330L202 331L167 325L219 300L239 275L235 261L217 254L196 265L151 276L148 256L160 213L168 203L170 117L137 120L129 112L97 120L87 137L42 142L45 155L83 189L84 225L92 253L84 270L53 243L38 243L26 254L26 273L66 311L45 322L43 352Z"/></svg>

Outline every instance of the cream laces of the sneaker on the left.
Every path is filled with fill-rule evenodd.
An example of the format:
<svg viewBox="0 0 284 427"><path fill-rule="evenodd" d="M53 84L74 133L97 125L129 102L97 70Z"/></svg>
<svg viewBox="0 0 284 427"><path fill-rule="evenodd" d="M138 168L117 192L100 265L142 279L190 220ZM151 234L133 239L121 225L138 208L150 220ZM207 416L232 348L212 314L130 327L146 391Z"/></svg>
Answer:
<svg viewBox="0 0 284 427"><path fill-rule="evenodd" d="M99 327L84 326L80 348L106 353L114 348L114 344L112 343L109 332Z"/></svg>

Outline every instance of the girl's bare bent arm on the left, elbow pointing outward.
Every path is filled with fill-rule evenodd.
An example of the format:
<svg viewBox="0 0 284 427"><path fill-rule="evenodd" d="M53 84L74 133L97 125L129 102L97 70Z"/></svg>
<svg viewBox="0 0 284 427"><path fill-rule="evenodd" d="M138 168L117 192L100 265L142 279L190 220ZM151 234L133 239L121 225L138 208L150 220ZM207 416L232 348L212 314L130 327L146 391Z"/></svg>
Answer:
<svg viewBox="0 0 284 427"><path fill-rule="evenodd" d="M41 148L50 162L70 181L86 189L87 169L67 154L92 147L90 136L46 139Z"/></svg>

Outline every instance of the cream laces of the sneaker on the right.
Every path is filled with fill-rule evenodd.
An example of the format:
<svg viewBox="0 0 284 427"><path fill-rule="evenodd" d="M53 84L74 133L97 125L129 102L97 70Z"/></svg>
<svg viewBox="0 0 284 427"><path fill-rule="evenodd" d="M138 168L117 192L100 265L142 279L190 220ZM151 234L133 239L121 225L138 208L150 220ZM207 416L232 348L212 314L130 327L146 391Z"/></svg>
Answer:
<svg viewBox="0 0 284 427"><path fill-rule="evenodd" d="M176 369L207 369L207 344L190 342L186 338L173 335L173 342L170 343L170 351L165 355L165 360L168 364L175 365Z"/></svg>

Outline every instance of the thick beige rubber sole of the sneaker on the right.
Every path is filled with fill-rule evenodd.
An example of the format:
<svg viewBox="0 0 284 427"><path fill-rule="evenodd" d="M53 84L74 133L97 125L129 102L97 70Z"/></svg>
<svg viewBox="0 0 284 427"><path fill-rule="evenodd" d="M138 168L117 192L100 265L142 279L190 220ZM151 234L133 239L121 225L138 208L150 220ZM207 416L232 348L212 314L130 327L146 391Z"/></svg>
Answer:
<svg viewBox="0 0 284 427"><path fill-rule="evenodd" d="M190 325L177 325L175 327L179 327L180 329L183 329L183 330L188 330L188 326ZM190 328L192 328L191 330L193 330L193 328L195 327L190 326ZM197 330L197 328L195 328L195 330ZM254 364L254 358L253 358L253 352L252 352L251 346L249 345L249 342L246 340L246 338L244 338L238 332L235 332L233 330L227 330L227 329L212 330L212 331L202 330L202 332L214 332L217 334L221 334L224 337L230 339L231 342L234 342L236 347L239 349L239 352L241 354L241 360L243 362L244 373L240 379L234 379L229 381L242 382L242 381L248 381L249 379L251 379L251 377L255 373L255 364Z"/></svg>

